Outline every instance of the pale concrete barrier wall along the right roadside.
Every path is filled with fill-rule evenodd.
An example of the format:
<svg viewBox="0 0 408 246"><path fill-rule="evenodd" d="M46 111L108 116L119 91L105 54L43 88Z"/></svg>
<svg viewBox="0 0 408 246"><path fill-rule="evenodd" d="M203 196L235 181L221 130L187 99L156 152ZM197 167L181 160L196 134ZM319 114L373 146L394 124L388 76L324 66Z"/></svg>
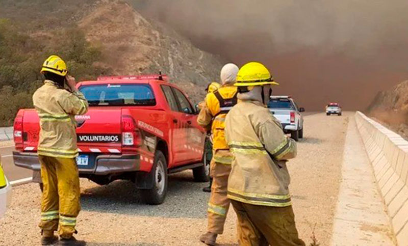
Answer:
<svg viewBox="0 0 408 246"><path fill-rule="evenodd" d="M361 112L355 114L399 245L408 245L408 141Z"/></svg>

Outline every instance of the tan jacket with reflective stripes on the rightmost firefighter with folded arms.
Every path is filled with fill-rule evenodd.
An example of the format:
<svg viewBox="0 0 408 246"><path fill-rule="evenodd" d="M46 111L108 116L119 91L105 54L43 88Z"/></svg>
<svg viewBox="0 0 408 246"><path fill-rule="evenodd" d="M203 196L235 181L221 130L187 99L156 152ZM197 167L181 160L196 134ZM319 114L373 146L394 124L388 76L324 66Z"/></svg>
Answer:
<svg viewBox="0 0 408 246"><path fill-rule="evenodd" d="M296 143L258 101L239 102L225 119L225 138L234 155L228 198L253 205L291 205L286 160Z"/></svg>

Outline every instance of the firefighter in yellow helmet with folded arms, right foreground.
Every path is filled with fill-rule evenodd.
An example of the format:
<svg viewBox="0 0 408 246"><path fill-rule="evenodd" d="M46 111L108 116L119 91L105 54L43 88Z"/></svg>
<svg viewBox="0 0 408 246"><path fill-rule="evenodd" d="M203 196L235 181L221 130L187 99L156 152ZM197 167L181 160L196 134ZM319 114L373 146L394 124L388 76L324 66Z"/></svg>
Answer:
<svg viewBox="0 0 408 246"><path fill-rule="evenodd" d="M240 245L304 245L289 194L288 159L296 143L265 106L272 94L268 69L258 62L238 72L238 99L225 119L225 139L234 155L228 198L238 216Z"/></svg>

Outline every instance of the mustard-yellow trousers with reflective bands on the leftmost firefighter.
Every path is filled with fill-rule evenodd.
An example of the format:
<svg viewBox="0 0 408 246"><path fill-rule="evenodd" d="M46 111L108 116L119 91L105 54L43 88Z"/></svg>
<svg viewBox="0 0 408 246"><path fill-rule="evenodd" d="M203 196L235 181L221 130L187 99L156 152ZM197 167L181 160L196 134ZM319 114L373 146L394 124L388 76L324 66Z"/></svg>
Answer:
<svg viewBox="0 0 408 246"><path fill-rule="evenodd" d="M74 158L44 155L38 158L43 183L39 227L43 236L52 236L58 230L60 237L70 238L76 232L77 216L81 210L77 162Z"/></svg>

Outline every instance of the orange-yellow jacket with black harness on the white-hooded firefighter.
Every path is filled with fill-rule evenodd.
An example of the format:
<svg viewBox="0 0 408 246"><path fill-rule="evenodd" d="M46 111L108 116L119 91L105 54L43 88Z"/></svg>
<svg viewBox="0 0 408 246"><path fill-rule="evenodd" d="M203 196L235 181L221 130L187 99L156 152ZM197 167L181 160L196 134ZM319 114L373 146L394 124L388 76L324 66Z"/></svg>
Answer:
<svg viewBox="0 0 408 246"><path fill-rule="evenodd" d="M231 165L232 155L225 141L225 116L237 104L237 88L224 85L220 89L208 93L206 102L197 118L197 123L207 129L211 126L213 135L213 158L216 162Z"/></svg>

